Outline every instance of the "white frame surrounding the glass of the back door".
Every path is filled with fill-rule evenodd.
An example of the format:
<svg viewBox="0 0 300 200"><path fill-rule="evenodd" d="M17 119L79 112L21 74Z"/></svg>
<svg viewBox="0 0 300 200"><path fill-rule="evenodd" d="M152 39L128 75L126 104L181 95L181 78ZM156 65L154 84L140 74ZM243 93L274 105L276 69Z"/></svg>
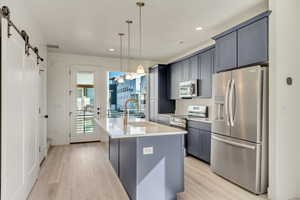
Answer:
<svg viewBox="0 0 300 200"><path fill-rule="evenodd" d="M95 90L95 112L96 108L100 107L99 95L97 95L98 86L96 80L98 78L97 73L98 67L89 66L89 65L73 65L69 67L69 143L80 143L80 142L96 142L100 141L100 133L97 125L95 125L95 133L90 135L83 136L73 136L72 131L74 130L74 117L75 113L73 112L75 107L74 95L75 84L76 84L76 73L77 72L92 72L94 73L94 90Z"/></svg>

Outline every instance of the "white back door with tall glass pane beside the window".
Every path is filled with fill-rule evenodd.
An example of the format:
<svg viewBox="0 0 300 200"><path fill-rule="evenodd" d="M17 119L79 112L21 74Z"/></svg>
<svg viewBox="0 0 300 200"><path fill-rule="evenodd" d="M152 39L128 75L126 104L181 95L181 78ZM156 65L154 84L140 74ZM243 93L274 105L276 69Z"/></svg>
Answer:
<svg viewBox="0 0 300 200"><path fill-rule="evenodd" d="M94 118L100 116L100 93L96 67L76 66L70 70L70 142L99 141L99 129Z"/></svg>

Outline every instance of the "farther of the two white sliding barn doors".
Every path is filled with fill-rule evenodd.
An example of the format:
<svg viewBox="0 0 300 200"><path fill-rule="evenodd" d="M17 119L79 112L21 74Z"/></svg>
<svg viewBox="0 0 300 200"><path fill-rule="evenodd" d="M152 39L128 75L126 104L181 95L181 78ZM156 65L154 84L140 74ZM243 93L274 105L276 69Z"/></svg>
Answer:
<svg viewBox="0 0 300 200"><path fill-rule="evenodd" d="M23 70L24 179L30 192L39 171L39 69L33 52L24 55Z"/></svg>

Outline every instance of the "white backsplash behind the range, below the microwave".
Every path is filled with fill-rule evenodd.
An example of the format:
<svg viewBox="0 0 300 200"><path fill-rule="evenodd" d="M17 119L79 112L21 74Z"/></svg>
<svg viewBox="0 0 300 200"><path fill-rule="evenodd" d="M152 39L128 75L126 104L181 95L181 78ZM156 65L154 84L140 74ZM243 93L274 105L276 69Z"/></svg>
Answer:
<svg viewBox="0 0 300 200"><path fill-rule="evenodd" d="M212 117L212 99L180 99L176 100L176 111L175 113L178 115L185 115L187 114L188 106L208 106L208 118L211 119Z"/></svg>

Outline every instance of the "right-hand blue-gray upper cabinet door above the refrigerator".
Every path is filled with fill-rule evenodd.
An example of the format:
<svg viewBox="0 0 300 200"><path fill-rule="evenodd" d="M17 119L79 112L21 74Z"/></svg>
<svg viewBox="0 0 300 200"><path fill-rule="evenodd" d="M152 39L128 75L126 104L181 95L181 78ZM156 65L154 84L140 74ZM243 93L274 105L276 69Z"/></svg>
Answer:
<svg viewBox="0 0 300 200"><path fill-rule="evenodd" d="M238 66L268 61L268 18L238 30Z"/></svg>

